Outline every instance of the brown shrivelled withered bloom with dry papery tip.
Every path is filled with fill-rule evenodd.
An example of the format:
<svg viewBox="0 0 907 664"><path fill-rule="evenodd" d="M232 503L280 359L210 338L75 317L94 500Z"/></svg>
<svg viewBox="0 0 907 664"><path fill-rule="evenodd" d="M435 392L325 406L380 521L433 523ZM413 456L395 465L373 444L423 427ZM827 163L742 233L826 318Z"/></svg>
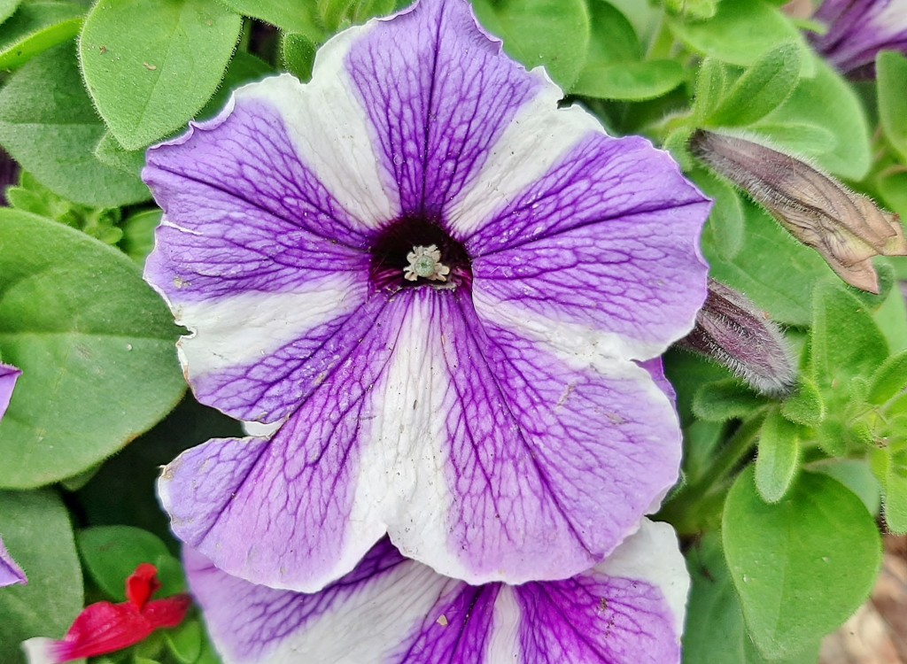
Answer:
<svg viewBox="0 0 907 664"><path fill-rule="evenodd" d="M874 256L907 256L897 215L800 161L736 136L697 131L690 150L745 190L785 229L818 251L838 276L879 292Z"/></svg>

